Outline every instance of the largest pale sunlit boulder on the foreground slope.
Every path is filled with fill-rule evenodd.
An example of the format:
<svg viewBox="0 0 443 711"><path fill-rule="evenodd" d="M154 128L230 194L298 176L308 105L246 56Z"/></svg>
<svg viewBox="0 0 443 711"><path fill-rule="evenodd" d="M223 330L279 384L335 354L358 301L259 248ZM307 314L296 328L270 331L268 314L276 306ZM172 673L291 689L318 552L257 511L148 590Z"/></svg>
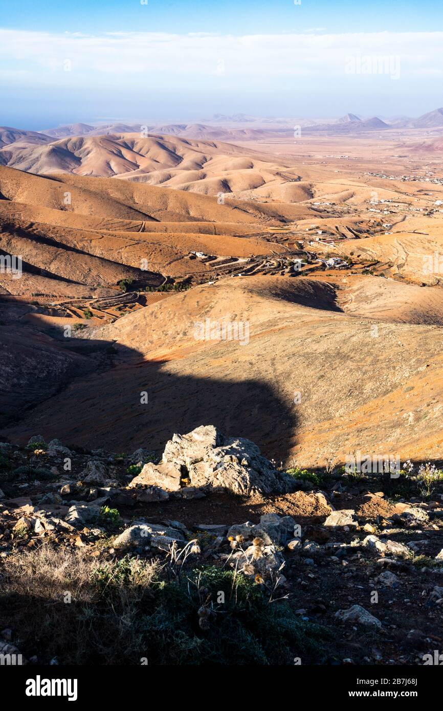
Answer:
<svg viewBox="0 0 443 711"><path fill-rule="evenodd" d="M160 464L145 464L129 486L159 486L179 491L187 485L226 489L236 494L286 493L297 488L249 439L224 437L213 425L174 434Z"/></svg>

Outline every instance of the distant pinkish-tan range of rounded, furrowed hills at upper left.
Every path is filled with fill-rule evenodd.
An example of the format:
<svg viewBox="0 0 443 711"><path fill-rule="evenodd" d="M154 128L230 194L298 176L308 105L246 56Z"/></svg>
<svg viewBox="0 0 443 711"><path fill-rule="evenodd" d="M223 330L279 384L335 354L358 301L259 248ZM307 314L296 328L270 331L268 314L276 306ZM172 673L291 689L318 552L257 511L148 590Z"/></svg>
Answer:
<svg viewBox="0 0 443 711"><path fill-rule="evenodd" d="M87 135L16 150L6 146L0 149L0 163L38 175L61 171L210 195L230 193L237 198L258 196L287 203L304 199L295 184L299 174L284 161L220 141Z"/></svg>

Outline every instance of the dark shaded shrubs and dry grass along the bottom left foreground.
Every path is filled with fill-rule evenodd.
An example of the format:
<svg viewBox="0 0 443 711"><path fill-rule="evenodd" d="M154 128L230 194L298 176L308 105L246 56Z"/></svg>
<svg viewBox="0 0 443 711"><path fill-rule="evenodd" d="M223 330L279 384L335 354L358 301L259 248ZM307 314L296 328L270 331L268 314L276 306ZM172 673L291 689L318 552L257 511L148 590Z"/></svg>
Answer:
<svg viewBox="0 0 443 711"><path fill-rule="evenodd" d="M43 545L6 560L1 583L1 624L14 626L25 653L38 639L46 663L289 665L321 659L330 636L213 566L168 581L156 560L99 563Z"/></svg>

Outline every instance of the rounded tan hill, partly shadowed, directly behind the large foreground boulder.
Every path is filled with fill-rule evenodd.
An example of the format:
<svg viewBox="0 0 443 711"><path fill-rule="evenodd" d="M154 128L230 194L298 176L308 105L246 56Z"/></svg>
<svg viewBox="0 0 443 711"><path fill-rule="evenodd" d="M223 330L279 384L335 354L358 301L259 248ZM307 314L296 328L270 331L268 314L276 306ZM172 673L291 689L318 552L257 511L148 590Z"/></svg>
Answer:
<svg viewBox="0 0 443 711"><path fill-rule="evenodd" d="M248 324L248 337L196 340L206 319ZM112 448L118 432L124 449L161 448L173 432L215 422L306 466L354 449L442 456L441 329L375 323L376 338L373 319L341 313L333 290L309 279L196 287L92 333L116 339L114 369L74 380L6 433Z"/></svg>

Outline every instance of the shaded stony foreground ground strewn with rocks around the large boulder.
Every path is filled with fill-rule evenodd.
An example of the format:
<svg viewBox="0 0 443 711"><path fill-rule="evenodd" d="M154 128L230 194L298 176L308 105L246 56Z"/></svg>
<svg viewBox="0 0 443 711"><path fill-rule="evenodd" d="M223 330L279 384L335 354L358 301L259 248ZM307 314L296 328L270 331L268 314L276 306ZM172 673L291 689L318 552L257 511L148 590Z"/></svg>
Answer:
<svg viewBox="0 0 443 711"><path fill-rule="evenodd" d="M438 481L425 490L403 475L337 470L303 474L294 491L277 494L186 482L166 494L129 486L144 461L157 459L146 450L80 451L38 437L23 448L0 443L0 587L14 557L44 547L111 566L129 559L166 565L183 550L186 569L235 570L272 604L286 599L308 626L331 634L326 653L309 653L302 663L416 665L440 648ZM48 663L48 648L31 636L14 596L6 602L0 651ZM208 633L201 625L196 634ZM63 661L59 653L56 662Z"/></svg>

